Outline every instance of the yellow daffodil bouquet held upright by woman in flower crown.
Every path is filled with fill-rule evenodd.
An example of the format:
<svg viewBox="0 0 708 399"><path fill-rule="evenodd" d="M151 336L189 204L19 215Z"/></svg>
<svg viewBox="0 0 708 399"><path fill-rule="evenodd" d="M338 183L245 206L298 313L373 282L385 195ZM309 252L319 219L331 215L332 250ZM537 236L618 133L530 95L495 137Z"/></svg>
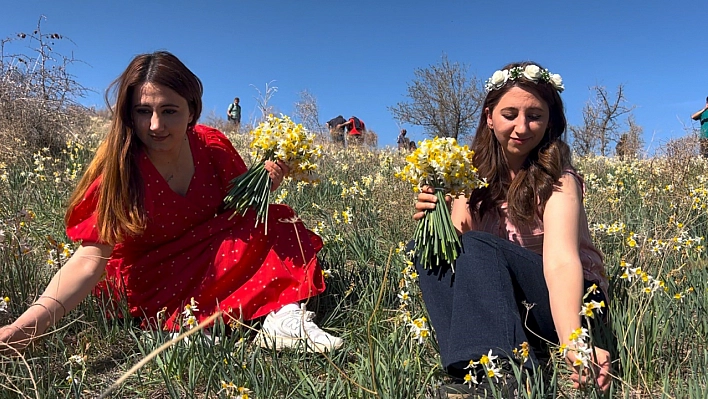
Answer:
<svg viewBox="0 0 708 399"><path fill-rule="evenodd" d="M472 165L474 151L461 147L454 138L436 137L425 140L406 157L407 165L396 177L413 185L418 192L422 186L435 190L437 206L425 212L418 222L413 240L415 258L424 267L449 264L454 272L454 262L462 244L445 206L445 196L464 194L483 187L486 182L477 177Z"/></svg>

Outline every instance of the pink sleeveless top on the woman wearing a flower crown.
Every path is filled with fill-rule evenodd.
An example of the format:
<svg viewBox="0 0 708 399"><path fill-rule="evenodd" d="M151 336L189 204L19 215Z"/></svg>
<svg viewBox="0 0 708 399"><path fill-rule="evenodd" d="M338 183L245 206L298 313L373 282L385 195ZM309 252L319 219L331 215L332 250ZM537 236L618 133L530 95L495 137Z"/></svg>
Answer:
<svg viewBox="0 0 708 399"><path fill-rule="evenodd" d="M582 188L583 195L585 194L585 183L583 179L574 170L565 170L563 173L570 173L575 177ZM496 212L490 211L484 214L481 220L477 213L474 213L474 223L476 229L486 233L494 234L501 238L506 238L509 241L520 245L532 252L543 256L543 220L538 216L529 226L514 226L506 216L507 203L503 203ZM590 229L585 214L580 225L580 263L583 265L583 277L585 280L596 283L605 294L609 288L605 266L602 260L602 253L595 248L590 237Z"/></svg>

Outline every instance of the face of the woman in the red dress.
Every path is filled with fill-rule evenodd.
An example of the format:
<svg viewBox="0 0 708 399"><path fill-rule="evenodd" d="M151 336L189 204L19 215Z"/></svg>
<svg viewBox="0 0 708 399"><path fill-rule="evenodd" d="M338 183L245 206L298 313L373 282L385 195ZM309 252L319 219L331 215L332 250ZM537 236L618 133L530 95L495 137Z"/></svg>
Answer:
<svg viewBox="0 0 708 399"><path fill-rule="evenodd" d="M184 97L153 83L135 89L131 115L135 132L151 157L178 154L187 125L194 117Z"/></svg>

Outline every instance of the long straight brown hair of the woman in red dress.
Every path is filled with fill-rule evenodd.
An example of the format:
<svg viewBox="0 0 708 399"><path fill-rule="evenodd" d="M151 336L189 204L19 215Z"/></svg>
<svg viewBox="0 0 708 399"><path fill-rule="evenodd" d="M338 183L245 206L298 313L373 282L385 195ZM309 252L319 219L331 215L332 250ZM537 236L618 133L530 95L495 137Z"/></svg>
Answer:
<svg viewBox="0 0 708 399"><path fill-rule="evenodd" d="M71 195L64 221L68 223L86 190L100 177L96 229L99 239L111 245L126 236L141 234L147 221L143 180L138 169L138 154L143 144L134 133L132 118L133 94L144 83L168 87L187 100L193 115L189 128L196 124L202 112L202 82L166 51L136 56L108 86L105 100L112 112L111 128ZM115 99L113 106L111 98Z"/></svg>

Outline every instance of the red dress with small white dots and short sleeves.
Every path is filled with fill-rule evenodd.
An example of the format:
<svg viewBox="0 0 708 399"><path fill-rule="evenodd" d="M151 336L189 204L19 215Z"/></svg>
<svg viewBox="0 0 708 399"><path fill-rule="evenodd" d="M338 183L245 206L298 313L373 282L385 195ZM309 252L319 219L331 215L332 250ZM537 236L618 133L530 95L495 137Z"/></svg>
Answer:
<svg viewBox="0 0 708 399"><path fill-rule="evenodd" d="M201 321L217 309L249 320L324 291L316 254L321 239L285 205L270 205L268 234L255 213L229 217L222 201L246 165L221 132L197 125L187 133L194 176L185 196L169 187L147 155L139 161L148 223L139 237L118 243L95 293L125 295L135 317L151 319L166 308L166 328L179 327L190 299ZM100 179L69 217L67 235L97 243Z"/></svg>

